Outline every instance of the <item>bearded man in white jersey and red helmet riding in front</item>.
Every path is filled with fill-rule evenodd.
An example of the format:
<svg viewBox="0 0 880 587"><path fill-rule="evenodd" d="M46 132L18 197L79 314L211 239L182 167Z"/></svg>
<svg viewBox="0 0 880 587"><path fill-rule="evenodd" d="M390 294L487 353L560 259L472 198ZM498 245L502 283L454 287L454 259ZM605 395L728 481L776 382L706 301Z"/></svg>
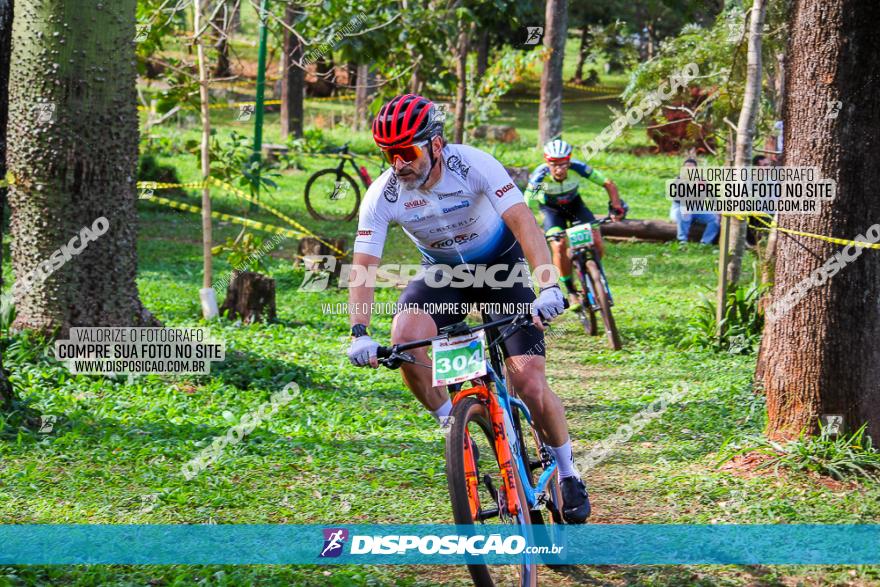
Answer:
<svg viewBox="0 0 880 587"><path fill-rule="evenodd" d="M414 94L385 104L373 122L373 138L391 169L367 190L361 206L354 244L355 270L369 275L379 264L391 223L399 224L422 254L425 274L413 279L399 299L402 310L394 317L392 342L406 343L436 336L439 328L463 320L465 310L427 313L427 304L463 308L473 303L531 304L534 325L505 341L505 359L511 386L531 411L536 427L554 452L563 497L563 516L572 523L590 515L586 487L574 464L562 402L547 384L541 319L552 320L563 311L563 296L553 270L535 272L539 294L520 279L503 287L473 284L440 285L438 273L452 267L484 265L493 283L510 282L512 275L528 275L532 267L550 268L551 257L543 231L504 167L491 155L466 145L450 145L443 123L431 101ZM516 280L513 280L516 281ZM448 283L448 282L446 282ZM351 362L378 366L379 344L367 333L370 316L363 313L373 301L369 283L349 292L353 341ZM448 307L448 306L447 306ZM493 315L498 318L501 315ZM404 383L439 421L452 410L445 388L433 387L427 349L412 351L416 363L401 367Z"/></svg>

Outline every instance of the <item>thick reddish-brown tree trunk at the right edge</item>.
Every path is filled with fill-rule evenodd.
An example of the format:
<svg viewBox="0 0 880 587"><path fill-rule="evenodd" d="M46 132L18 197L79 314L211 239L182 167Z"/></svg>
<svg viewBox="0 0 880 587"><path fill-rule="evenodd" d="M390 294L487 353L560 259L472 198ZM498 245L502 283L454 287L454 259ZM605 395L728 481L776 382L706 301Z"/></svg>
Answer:
<svg viewBox="0 0 880 587"><path fill-rule="evenodd" d="M799 0L790 18L786 164L818 167L837 182L837 195L819 214L782 215L779 225L856 239L880 219L874 195L880 165L873 155L880 150L880 4ZM838 116L825 116L828 103L838 100ZM840 250L803 237L782 238L777 247L774 300ZM791 309L767 317L757 375L767 394L770 438L814 433L822 415L839 414L848 431L867 423L874 441L880 439L880 255L857 256Z"/></svg>

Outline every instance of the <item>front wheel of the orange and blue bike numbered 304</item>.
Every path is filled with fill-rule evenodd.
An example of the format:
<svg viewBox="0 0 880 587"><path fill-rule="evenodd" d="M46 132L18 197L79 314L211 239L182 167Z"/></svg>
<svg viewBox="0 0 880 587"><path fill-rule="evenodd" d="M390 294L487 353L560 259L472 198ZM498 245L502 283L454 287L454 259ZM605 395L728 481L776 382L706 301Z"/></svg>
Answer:
<svg viewBox="0 0 880 587"><path fill-rule="evenodd" d="M473 443L473 444L472 444ZM475 451L472 447L476 446ZM489 420L488 408L475 397L457 402L446 438L446 478L452 501L452 517L459 525L496 522L514 524L521 528L531 542L531 516L525 492L523 474L515 474L520 503L515 517L505 515L504 488L500 465L495 455L495 434ZM514 469L517 469L514 463ZM518 565L469 564L468 571L479 587L510 585L534 587L537 585L537 557L523 555Z"/></svg>

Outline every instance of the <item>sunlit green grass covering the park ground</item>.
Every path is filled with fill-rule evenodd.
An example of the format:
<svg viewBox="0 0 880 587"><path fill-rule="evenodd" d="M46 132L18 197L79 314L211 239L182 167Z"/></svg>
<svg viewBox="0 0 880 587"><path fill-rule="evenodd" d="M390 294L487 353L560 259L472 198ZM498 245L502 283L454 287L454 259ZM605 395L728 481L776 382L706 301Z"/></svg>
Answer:
<svg viewBox="0 0 880 587"><path fill-rule="evenodd" d="M566 106L566 138L586 141L609 123L613 103ZM309 102L314 120L348 114L348 105ZM247 131L231 111L214 111L225 133ZM508 165L535 165L536 106L505 104L498 123L515 126L513 145L477 143ZM277 141L277 115L266 121ZM195 138L197 129L162 127ZM369 135L346 127L325 129L334 143L351 140L361 152ZM664 181L676 157L637 157L643 130L629 131L595 165L620 186L637 218L665 218ZM306 160L286 172L267 201L315 232L351 240L352 224L308 218L302 190L321 167ZM183 181L198 176L192 155L162 158ZM596 211L605 195L584 184ZM195 195L194 193L192 194ZM193 199L194 203L197 200ZM241 202L214 192L215 208L246 214ZM253 217L271 220L256 213ZM144 201L139 203L140 294L168 326L208 326L226 343L227 359L210 375L155 375L132 384L99 376L73 376L44 356L43 348L16 338L5 351L20 395L45 414L59 416L50 434L19 432L0 441L2 523L342 523L449 522L443 439L432 418L397 373L348 366L343 349L347 319L325 315L321 304L343 302L334 289L301 293L295 242L285 241L270 262L277 282L277 324L243 327L199 319L200 220ZM215 223L215 241L237 228ZM567 410L576 455L583 456L631 416L679 382L689 392L612 457L585 472L597 523L869 523L880 520L880 484L829 485L804 471L753 476L719 469L726 441L759 435L762 398L753 393L754 355L683 350L686 324L703 288L714 284L717 249L699 245L624 243L607 247L606 269L624 349L609 351L601 337L577 333L573 319L556 328L572 333L548 349L548 377ZM648 259L641 276L632 260ZM8 259L8 257L7 257ZM400 230L391 232L386 259L414 262ZM750 267L751 263L745 263ZM4 268L7 272L8 267ZM216 261L215 274L229 267ZM7 273L8 275L8 273ZM744 280L748 280L746 275ZM394 301L384 289L380 301ZM380 341L388 316L376 316ZM230 417L254 410L286 383L302 393L223 458L186 481L181 465L210 439L225 433ZM224 416L224 414L226 414ZM792 585L880 580L874 567L577 567L542 571L560 585ZM468 584L461 568L408 567L0 567L0 585L433 585Z"/></svg>

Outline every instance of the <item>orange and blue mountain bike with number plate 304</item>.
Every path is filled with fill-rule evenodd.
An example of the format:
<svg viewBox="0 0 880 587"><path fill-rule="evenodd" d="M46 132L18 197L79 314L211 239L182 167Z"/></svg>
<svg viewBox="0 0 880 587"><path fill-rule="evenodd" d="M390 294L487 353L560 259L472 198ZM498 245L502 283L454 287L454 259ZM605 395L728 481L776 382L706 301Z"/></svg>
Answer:
<svg viewBox="0 0 880 587"><path fill-rule="evenodd" d="M531 542L535 524L561 524L562 492L556 480L553 453L535 429L526 405L505 384L501 345L532 323L529 314L470 327L464 322L442 328L424 340L379 347L379 362L396 369L416 363L406 351L431 346L435 385L453 396L446 428L446 477L456 524L513 524ZM487 342L488 339L488 342ZM487 352L488 351L488 352ZM470 386L464 388L465 384ZM537 479L535 478L537 474ZM518 585L537 584L534 554L523 554L515 565ZM482 559L468 564L475 585L509 584L509 568L490 566Z"/></svg>

